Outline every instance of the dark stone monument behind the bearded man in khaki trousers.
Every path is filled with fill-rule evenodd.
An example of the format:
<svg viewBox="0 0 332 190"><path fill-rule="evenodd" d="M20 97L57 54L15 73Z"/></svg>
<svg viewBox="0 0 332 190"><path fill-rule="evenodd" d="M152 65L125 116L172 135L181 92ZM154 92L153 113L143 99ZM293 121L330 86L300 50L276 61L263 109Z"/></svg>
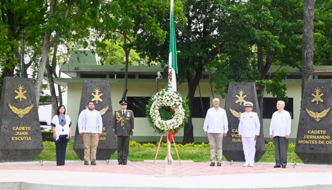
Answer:
<svg viewBox="0 0 332 190"><path fill-rule="evenodd" d="M97 160L107 160L116 151L116 139L112 130L113 112L111 91L108 81L101 80L84 80L80 110L87 109L88 101L94 102L94 109L98 110L103 118L102 137L99 138L97 147ZM78 125L76 126L74 151L81 160L84 160L83 137L79 135Z"/></svg>

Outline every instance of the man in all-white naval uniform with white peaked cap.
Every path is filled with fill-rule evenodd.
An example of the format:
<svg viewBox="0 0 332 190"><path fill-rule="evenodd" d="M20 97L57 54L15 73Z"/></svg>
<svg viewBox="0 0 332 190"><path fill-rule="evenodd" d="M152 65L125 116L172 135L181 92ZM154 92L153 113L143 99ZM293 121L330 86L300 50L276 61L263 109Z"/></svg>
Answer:
<svg viewBox="0 0 332 190"><path fill-rule="evenodd" d="M259 136L260 124L256 112L252 112L252 103L244 103L246 112L240 116L239 135L242 138L243 152L245 155L245 164L243 166L253 167L256 153L256 139Z"/></svg>

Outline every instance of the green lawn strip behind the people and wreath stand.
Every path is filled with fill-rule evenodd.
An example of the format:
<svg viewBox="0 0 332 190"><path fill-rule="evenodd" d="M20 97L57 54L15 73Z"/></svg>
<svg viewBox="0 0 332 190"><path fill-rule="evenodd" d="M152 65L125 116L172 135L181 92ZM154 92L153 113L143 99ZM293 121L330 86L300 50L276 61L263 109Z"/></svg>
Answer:
<svg viewBox="0 0 332 190"><path fill-rule="evenodd" d="M151 143L140 144L135 141L130 142L129 157L130 161L144 161L144 160L154 160L157 153L157 145ZM180 160L193 160L195 162L208 162L210 161L210 150L208 144L177 144L178 153ZM295 143L289 144L288 149L288 162L301 163L302 161L295 154ZM157 160L165 159L167 155L167 144L161 143L158 152ZM172 157L177 160L176 151L172 144ZM111 160L116 160L116 152L110 158ZM35 159L43 161L56 161L55 156L55 144L53 142L45 141L44 150ZM66 160L80 160L79 157L73 150L73 142L69 142L67 146ZM223 157L223 160L226 159ZM274 144L269 142L266 144L266 153L260 158L259 162L274 162Z"/></svg>

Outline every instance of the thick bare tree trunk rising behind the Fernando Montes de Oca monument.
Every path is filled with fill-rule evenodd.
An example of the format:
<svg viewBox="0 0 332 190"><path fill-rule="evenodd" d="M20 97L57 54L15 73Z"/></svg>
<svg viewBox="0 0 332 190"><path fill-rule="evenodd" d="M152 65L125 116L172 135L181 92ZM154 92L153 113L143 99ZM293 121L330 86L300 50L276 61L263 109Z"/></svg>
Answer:
<svg viewBox="0 0 332 190"><path fill-rule="evenodd" d="M313 79L314 61L314 12L315 1L304 0L303 6L303 35L302 35L302 86L303 95L304 83Z"/></svg>

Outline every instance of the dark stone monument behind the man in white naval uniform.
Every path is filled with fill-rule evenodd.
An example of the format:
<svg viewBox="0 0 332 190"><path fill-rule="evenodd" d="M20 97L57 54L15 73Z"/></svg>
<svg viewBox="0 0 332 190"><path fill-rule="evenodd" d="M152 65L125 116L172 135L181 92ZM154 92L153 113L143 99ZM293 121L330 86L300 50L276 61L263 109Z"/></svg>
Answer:
<svg viewBox="0 0 332 190"><path fill-rule="evenodd" d="M244 102L253 103L253 112L256 112L260 122L260 133L256 140L255 162L266 152L263 134L263 122L257 101L256 86L254 82L230 83L226 97L225 110L228 120L228 133L223 138L223 155L227 160L245 161L242 139L239 136L239 122L241 113L245 112Z"/></svg>

